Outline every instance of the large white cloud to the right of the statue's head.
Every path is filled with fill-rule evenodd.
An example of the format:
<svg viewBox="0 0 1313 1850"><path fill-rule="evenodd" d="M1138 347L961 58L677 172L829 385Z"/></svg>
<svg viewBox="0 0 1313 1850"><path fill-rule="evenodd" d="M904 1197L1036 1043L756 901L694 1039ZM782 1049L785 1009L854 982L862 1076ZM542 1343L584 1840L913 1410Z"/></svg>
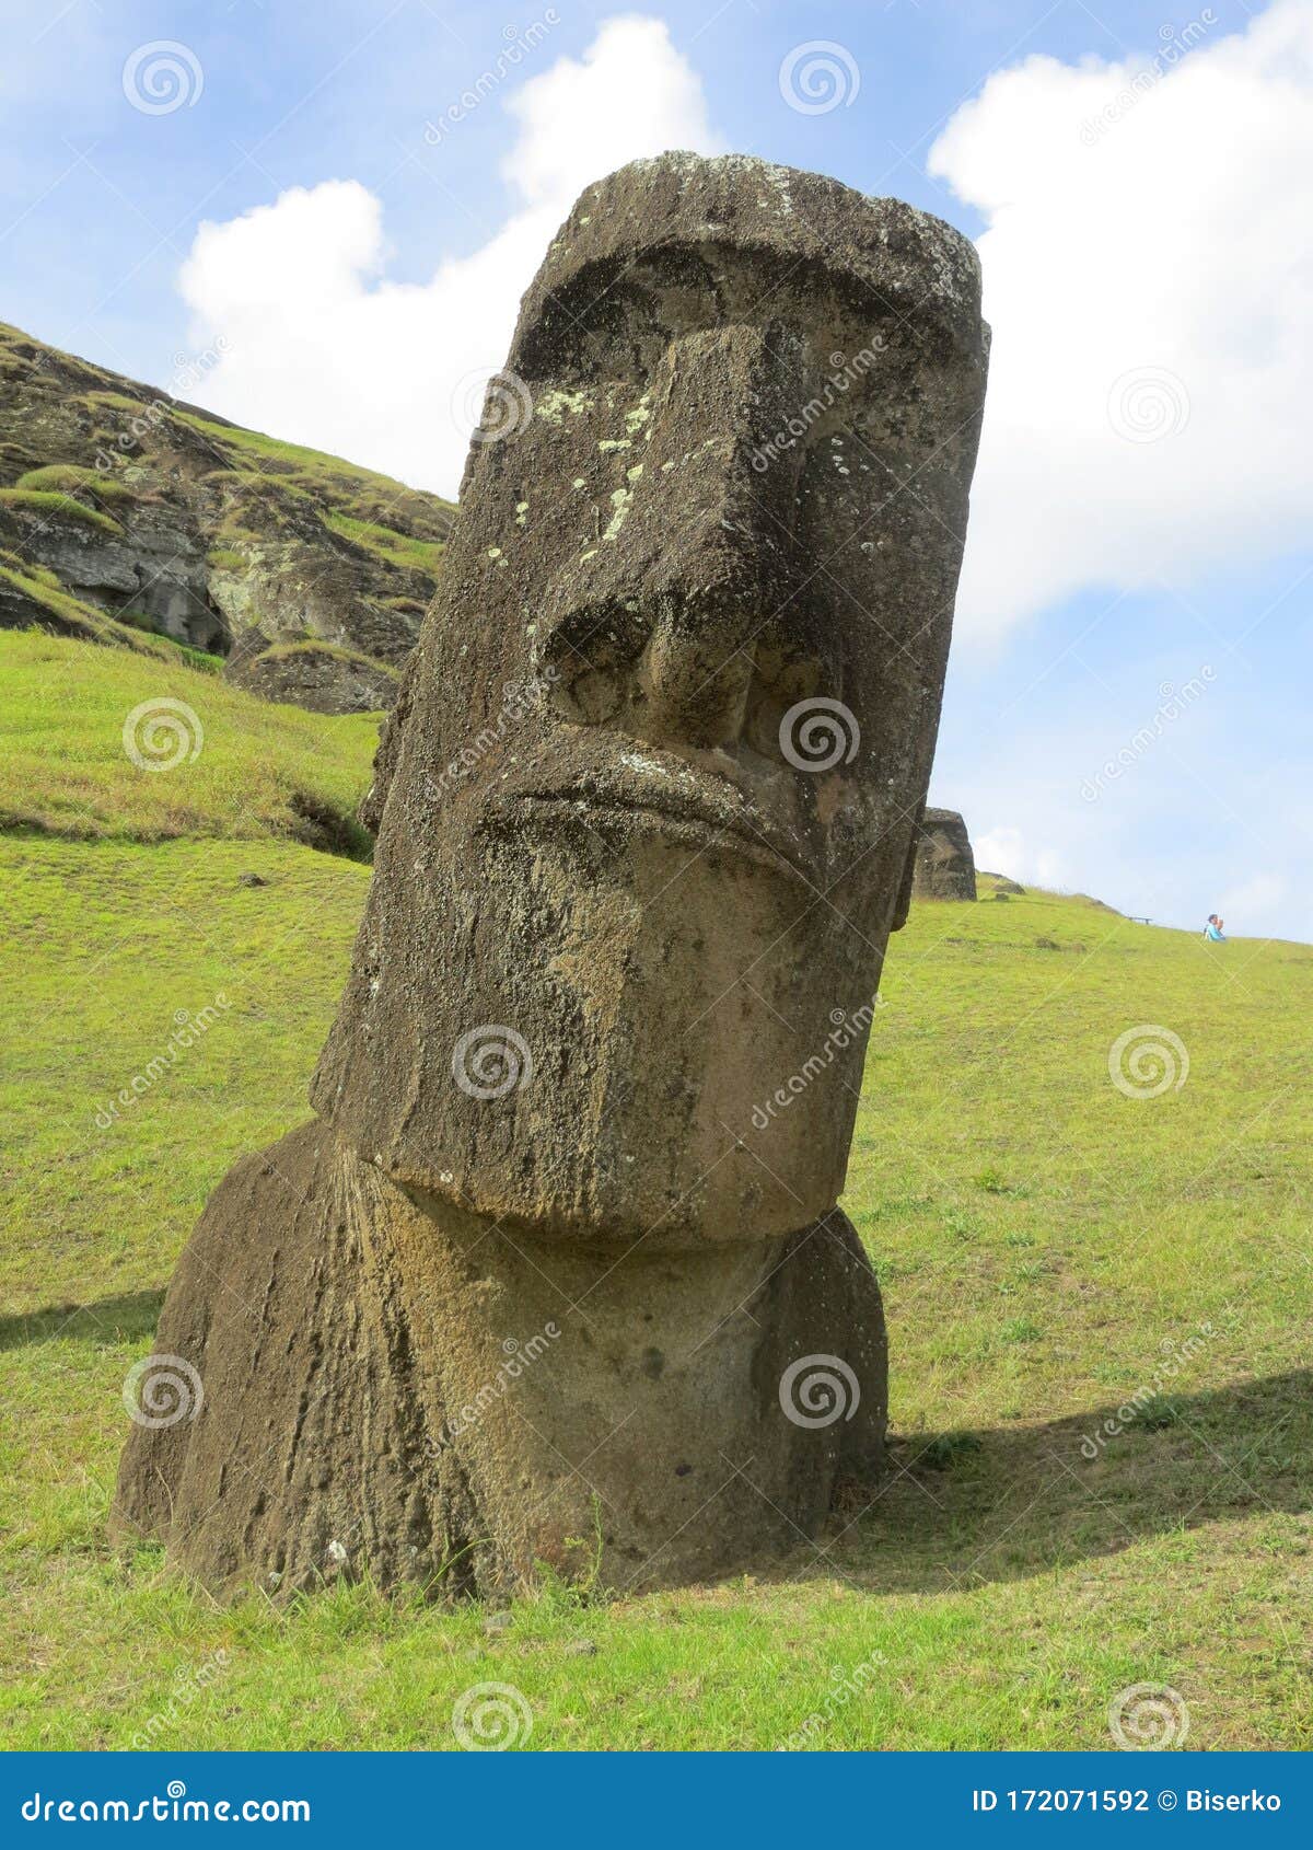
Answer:
<svg viewBox="0 0 1313 1850"><path fill-rule="evenodd" d="M1209 18L1126 63L1028 57L930 150L988 220L967 636L1307 544L1313 6Z"/></svg>

